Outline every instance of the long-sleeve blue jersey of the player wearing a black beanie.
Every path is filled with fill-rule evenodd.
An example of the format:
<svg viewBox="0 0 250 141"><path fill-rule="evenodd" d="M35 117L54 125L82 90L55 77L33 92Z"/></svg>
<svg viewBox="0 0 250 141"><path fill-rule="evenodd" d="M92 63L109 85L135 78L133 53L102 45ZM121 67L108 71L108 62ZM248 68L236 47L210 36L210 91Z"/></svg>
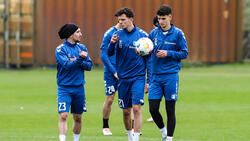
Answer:
<svg viewBox="0 0 250 141"><path fill-rule="evenodd" d="M71 44L64 41L55 50L57 65L58 86L80 86L85 84L84 71L92 69L92 61L89 55L83 58L79 51L87 51L87 48L79 43ZM76 57L74 60L73 58Z"/></svg>

